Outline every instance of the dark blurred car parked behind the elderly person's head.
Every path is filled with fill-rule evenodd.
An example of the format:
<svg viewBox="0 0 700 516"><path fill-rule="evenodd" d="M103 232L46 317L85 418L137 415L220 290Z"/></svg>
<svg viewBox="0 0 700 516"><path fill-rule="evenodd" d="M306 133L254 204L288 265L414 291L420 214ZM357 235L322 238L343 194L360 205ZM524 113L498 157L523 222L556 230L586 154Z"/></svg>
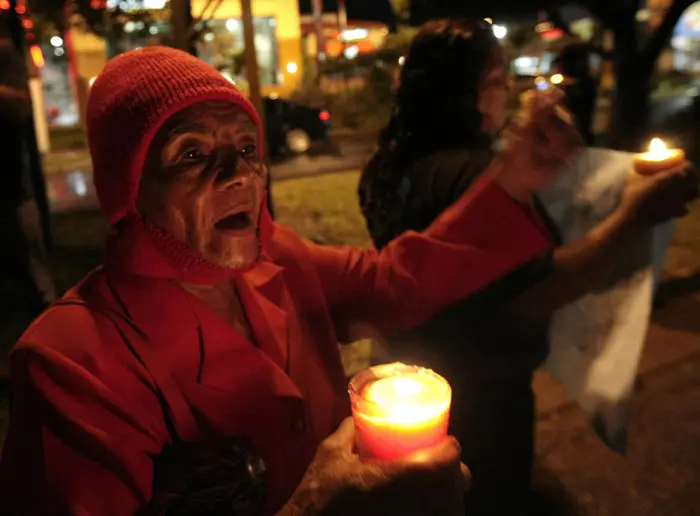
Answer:
<svg viewBox="0 0 700 516"><path fill-rule="evenodd" d="M303 154L328 141L331 115L325 109L265 97L265 122L270 154Z"/></svg>

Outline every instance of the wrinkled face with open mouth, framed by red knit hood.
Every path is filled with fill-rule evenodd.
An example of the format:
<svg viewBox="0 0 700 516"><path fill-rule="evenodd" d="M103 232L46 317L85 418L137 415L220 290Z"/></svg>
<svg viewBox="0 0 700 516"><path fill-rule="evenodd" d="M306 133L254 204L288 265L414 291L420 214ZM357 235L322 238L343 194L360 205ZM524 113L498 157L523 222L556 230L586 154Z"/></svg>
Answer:
<svg viewBox="0 0 700 516"><path fill-rule="evenodd" d="M260 253L267 180L259 145L257 126L235 104L204 102L180 111L149 149L140 213L211 263L249 267Z"/></svg>

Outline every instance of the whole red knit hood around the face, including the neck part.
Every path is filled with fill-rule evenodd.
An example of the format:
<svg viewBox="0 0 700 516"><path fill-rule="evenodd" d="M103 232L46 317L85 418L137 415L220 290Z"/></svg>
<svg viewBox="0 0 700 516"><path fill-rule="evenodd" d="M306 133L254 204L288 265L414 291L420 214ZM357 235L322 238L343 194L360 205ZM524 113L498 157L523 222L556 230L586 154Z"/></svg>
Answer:
<svg viewBox="0 0 700 516"><path fill-rule="evenodd" d="M205 261L136 209L146 155L158 130L175 113L199 102L230 101L244 108L263 135L260 117L245 96L203 61L167 47L147 47L115 57L95 80L87 106L87 132L100 207L118 228L107 244L106 265L136 274L216 283L240 270ZM259 233L271 237L266 203Z"/></svg>

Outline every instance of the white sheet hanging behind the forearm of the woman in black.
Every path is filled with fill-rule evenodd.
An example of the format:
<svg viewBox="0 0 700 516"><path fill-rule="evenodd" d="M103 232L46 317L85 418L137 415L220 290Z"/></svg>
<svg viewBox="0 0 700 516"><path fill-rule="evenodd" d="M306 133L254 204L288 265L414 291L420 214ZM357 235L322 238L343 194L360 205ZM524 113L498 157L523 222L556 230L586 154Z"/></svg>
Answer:
<svg viewBox="0 0 700 516"><path fill-rule="evenodd" d="M583 237L619 202L633 155L585 149L542 196L564 242ZM588 414L611 448L624 452L642 347L673 224L656 227L626 250L609 278L558 311L546 369Z"/></svg>

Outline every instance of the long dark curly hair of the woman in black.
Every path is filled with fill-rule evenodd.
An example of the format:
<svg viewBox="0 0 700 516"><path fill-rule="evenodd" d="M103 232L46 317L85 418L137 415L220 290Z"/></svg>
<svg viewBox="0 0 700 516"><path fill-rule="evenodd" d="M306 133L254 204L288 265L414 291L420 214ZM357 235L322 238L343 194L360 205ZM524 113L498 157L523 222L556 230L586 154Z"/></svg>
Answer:
<svg viewBox="0 0 700 516"><path fill-rule="evenodd" d="M412 163L440 150L490 142L482 129L479 89L484 74L502 60L484 21L431 21L411 42L394 113L360 181L360 205L377 248L403 232L404 173Z"/></svg>

